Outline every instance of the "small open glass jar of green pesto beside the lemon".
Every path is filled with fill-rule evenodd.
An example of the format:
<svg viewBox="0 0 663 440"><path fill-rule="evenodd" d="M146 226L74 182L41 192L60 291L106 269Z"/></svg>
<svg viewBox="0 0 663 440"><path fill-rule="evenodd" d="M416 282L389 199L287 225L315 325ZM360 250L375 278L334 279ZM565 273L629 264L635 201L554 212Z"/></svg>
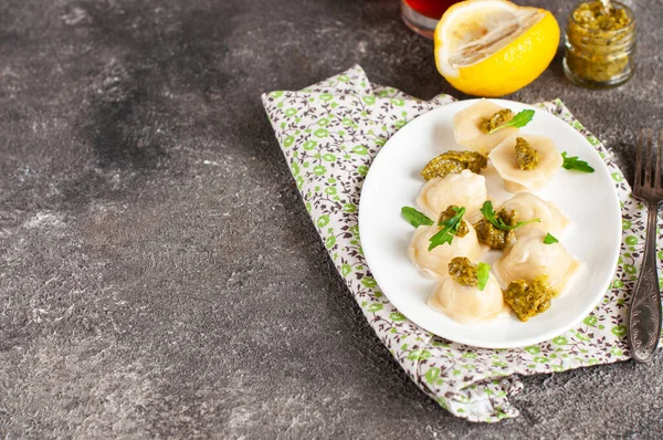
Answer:
<svg viewBox="0 0 663 440"><path fill-rule="evenodd" d="M635 17L619 1L579 3L566 29L564 72L575 84L614 87L635 71Z"/></svg>

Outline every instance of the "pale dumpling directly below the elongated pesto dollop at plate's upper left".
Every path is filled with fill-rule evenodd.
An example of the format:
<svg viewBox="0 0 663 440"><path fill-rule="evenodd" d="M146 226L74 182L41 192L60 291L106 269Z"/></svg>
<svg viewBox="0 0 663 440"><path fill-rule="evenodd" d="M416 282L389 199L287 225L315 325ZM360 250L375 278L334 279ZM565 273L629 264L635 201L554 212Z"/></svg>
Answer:
<svg viewBox="0 0 663 440"><path fill-rule="evenodd" d="M430 179L419 192L417 205L431 219L438 219L450 205L465 207L464 220L477 221L483 202L488 197L486 179L469 169L461 174Z"/></svg>

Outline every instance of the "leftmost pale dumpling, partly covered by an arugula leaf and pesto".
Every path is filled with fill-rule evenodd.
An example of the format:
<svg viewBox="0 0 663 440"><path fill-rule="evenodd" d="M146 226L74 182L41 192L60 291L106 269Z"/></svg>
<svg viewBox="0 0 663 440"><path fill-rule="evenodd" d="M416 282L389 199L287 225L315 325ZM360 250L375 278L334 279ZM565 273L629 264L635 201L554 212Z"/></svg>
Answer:
<svg viewBox="0 0 663 440"><path fill-rule="evenodd" d="M469 232L465 237L454 237L450 244L441 244L432 251L428 250L429 240L440 230L436 224L419 227L410 242L408 255L421 272L431 277L444 276L449 273L449 262L455 256L466 256L471 261L477 261L485 252L485 248L478 244L476 231L467 224Z"/></svg>

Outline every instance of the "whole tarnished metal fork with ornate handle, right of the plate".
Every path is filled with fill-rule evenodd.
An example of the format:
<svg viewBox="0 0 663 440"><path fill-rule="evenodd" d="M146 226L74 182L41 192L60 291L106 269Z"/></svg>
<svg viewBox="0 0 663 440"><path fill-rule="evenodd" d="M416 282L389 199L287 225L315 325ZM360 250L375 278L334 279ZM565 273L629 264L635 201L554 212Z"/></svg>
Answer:
<svg viewBox="0 0 663 440"><path fill-rule="evenodd" d="M631 356L640 363L649 363L661 337L661 294L656 274L656 224L659 203L663 201L661 186L661 158L663 156L663 130L659 132L659 148L653 149L653 132L641 129L635 148L635 185L633 196L648 205L644 255L640 276L635 283L629 311L629 345ZM652 159L656 155L654 165ZM654 179L652 180L652 168Z"/></svg>

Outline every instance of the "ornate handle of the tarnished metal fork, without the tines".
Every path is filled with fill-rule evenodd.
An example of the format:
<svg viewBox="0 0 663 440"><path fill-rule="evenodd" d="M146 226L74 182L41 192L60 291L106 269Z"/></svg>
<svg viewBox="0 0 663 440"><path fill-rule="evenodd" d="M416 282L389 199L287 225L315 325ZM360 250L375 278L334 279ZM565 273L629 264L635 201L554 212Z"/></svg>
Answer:
<svg viewBox="0 0 663 440"><path fill-rule="evenodd" d="M648 206L648 222L642 269L635 283L631 310L629 311L629 345L631 357L639 363L649 363L661 338L661 294L656 274L656 224L659 205Z"/></svg>

